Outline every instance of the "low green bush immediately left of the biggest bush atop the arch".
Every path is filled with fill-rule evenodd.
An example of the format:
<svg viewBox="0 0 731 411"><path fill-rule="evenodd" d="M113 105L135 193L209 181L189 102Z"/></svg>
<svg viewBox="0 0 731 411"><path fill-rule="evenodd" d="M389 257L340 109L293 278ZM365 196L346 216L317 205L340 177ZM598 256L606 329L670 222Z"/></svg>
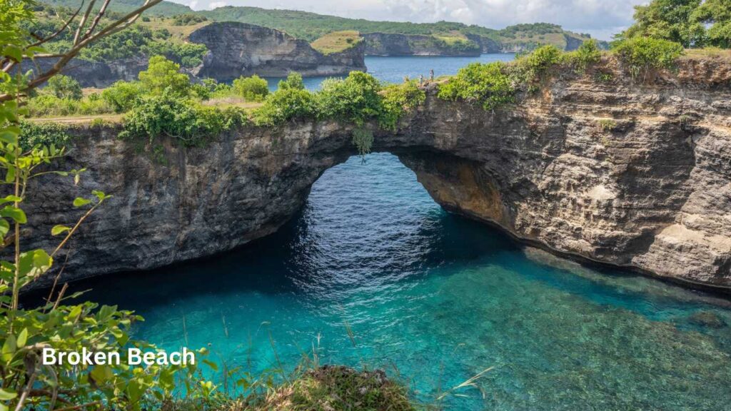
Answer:
<svg viewBox="0 0 731 411"><path fill-rule="evenodd" d="M315 116L313 95L299 88L281 88L270 94L262 107L254 110L254 124L275 126L293 118Z"/></svg>

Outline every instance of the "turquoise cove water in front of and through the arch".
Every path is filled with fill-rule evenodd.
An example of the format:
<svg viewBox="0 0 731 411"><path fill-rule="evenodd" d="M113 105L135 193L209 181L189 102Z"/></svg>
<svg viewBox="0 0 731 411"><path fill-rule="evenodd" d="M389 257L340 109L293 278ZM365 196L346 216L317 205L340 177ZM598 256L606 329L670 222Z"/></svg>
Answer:
<svg viewBox="0 0 731 411"><path fill-rule="evenodd" d="M728 301L519 246L447 214L390 154L327 170L254 244L74 287L143 315L137 338L254 371L319 340L323 362L400 373L433 401L495 367L449 410L731 410Z"/></svg>

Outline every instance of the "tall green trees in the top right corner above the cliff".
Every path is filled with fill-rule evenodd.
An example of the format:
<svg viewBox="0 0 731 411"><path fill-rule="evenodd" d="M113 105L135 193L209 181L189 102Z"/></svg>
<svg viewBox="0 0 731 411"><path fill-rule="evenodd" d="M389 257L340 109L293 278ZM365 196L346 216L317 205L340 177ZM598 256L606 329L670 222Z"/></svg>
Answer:
<svg viewBox="0 0 731 411"><path fill-rule="evenodd" d="M731 6L727 0L653 0L635 7L635 24L619 39L651 37L685 48L731 47Z"/></svg>

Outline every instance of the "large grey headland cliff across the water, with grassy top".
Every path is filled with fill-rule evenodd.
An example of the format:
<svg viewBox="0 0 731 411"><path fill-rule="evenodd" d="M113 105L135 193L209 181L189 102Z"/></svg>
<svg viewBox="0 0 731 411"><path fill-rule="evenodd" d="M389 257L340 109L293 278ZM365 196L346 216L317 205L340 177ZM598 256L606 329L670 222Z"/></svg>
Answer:
<svg viewBox="0 0 731 411"><path fill-rule="evenodd" d="M245 23L211 23L194 31L190 41L204 44L208 53L199 75L232 80L241 75L341 75L365 71L364 45L324 55L308 42L281 31Z"/></svg>

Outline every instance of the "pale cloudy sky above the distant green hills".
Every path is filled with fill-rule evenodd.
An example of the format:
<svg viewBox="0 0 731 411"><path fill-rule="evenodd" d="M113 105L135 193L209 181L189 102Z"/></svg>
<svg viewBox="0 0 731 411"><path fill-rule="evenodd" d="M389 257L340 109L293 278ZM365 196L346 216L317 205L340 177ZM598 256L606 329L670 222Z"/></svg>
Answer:
<svg viewBox="0 0 731 411"><path fill-rule="evenodd" d="M633 7L646 0L172 0L194 10L254 6L367 20L458 21L502 29L517 23L556 23L610 40L632 24Z"/></svg>

